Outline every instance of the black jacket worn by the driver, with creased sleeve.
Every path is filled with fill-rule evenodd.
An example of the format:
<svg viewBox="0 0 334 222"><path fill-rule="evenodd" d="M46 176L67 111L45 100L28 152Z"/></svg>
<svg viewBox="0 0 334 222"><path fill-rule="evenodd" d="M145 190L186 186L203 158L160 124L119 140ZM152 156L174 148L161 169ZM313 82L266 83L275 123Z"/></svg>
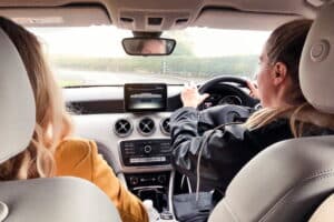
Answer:
<svg viewBox="0 0 334 222"><path fill-rule="evenodd" d="M203 149L200 180L223 192L258 152L293 138L285 119L250 131L242 124L232 124L204 134L198 133L199 119L199 112L193 108L181 108L170 117L174 165L179 172L196 176L199 150Z"/></svg>

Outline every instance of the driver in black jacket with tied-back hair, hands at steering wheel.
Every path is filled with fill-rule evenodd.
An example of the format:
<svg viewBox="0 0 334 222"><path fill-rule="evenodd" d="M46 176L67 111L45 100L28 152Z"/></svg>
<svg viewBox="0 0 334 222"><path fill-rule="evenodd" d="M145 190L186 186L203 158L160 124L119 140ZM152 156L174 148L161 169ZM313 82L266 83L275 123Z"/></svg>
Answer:
<svg viewBox="0 0 334 222"><path fill-rule="evenodd" d="M334 117L315 110L299 87L299 58L311 24L311 20L295 20L268 38L259 57L258 91L253 89L252 93L258 93L264 109L245 124L198 134L196 108L206 95L199 94L195 85L183 90L184 108L170 118L174 164L179 172L200 176L200 181L224 193L236 173L271 144L293 137L333 133L330 129L334 129Z"/></svg>

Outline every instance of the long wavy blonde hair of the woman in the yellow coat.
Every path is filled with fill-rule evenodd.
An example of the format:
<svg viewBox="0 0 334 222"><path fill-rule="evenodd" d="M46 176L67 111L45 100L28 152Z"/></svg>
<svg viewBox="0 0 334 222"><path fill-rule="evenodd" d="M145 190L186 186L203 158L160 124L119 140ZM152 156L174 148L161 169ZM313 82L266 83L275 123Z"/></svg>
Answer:
<svg viewBox="0 0 334 222"><path fill-rule="evenodd" d="M3 17L0 17L0 28L11 39L24 63L37 108L30 144L0 165L0 180L53 176L53 153L72 129L61 89L57 85L37 37Z"/></svg>

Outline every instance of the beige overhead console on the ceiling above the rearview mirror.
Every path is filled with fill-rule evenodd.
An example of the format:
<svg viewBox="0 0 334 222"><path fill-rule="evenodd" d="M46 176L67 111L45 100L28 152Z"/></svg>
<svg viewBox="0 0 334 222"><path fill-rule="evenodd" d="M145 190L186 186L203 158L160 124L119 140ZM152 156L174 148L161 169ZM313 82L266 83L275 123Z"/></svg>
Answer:
<svg viewBox="0 0 334 222"><path fill-rule="evenodd" d="M184 29L196 19L204 0L110 0L112 23L132 31ZM161 10L163 9L163 10Z"/></svg>

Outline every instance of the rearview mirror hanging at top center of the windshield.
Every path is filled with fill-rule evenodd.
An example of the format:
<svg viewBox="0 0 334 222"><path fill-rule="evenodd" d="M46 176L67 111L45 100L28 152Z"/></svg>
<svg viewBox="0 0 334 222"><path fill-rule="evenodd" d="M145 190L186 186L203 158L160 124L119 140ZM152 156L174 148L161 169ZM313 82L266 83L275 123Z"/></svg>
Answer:
<svg viewBox="0 0 334 222"><path fill-rule="evenodd" d="M163 38L126 38L122 48L130 56L168 56L174 51L176 41Z"/></svg>

